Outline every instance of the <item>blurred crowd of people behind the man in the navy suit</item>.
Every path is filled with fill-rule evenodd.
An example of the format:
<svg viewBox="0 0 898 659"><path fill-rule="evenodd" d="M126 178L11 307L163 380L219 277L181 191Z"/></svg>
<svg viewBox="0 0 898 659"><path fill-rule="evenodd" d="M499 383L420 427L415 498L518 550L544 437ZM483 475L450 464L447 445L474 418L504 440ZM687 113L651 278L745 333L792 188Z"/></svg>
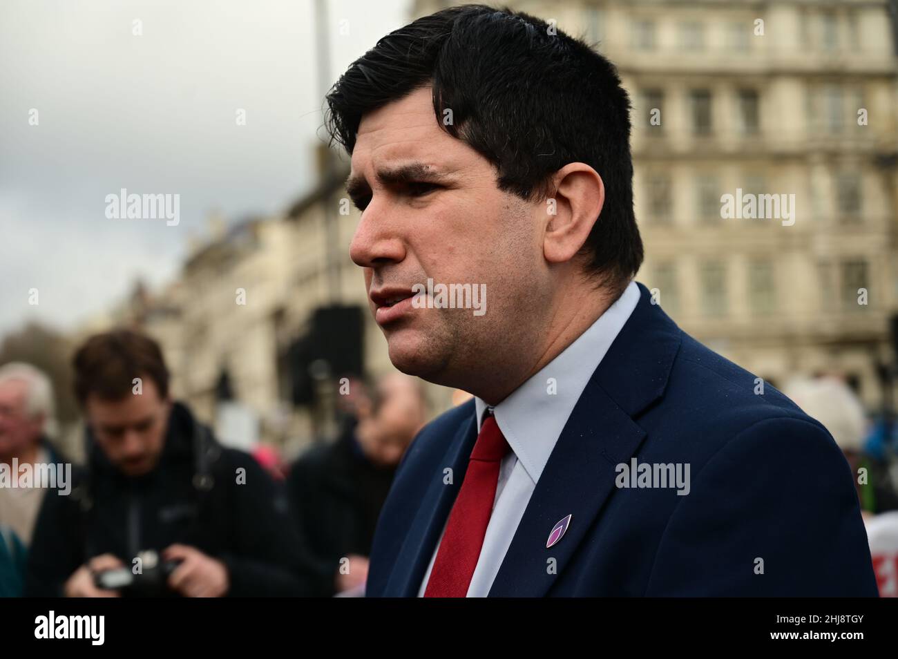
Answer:
<svg viewBox="0 0 898 659"><path fill-rule="evenodd" d="M393 474L427 420L418 379L348 380L339 436L287 463L269 445L250 454L219 443L172 400L145 335L95 335L72 367L78 465L54 445L48 377L0 366L0 596L364 595ZM784 390L845 454L880 594L898 596L894 424L868 419L836 378Z"/></svg>

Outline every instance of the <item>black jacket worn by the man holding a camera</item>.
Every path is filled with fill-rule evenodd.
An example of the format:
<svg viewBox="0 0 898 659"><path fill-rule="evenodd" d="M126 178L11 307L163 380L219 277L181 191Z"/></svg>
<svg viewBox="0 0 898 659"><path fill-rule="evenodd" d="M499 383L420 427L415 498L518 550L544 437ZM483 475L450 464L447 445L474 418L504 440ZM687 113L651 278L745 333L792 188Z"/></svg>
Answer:
<svg viewBox="0 0 898 659"><path fill-rule="evenodd" d="M175 542L225 563L229 596L309 593L311 572L283 492L250 455L217 444L186 407L175 403L160 462L145 476L126 477L89 434L88 443L71 495L44 497L26 596L62 595L92 557L111 553L131 567L136 552L161 554Z"/></svg>

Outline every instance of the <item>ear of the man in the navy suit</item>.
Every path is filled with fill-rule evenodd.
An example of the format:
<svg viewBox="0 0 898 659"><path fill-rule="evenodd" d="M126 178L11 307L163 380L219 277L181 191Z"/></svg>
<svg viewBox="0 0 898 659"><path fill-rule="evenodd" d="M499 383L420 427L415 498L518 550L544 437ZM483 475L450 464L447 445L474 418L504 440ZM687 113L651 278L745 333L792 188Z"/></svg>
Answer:
<svg viewBox="0 0 898 659"><path fill-rule="evenodd" d="M550 263L573 259L593 230L605 203L602 177L585 163L568 163L553 177L555 195L546 200L542 252Z"/></svg>

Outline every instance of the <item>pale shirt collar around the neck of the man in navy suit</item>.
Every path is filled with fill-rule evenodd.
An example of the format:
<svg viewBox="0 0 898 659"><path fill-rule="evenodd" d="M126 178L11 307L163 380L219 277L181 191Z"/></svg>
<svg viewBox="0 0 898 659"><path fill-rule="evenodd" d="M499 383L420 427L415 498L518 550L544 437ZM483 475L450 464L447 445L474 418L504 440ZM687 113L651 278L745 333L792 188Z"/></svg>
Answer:
<svg viewBox="0 0 898 659"><path fill-rule="evenodd" d="M494 407L499 430L533 483L540 479L586 383L638 302L639 288L631 281L589 329ZM489 406L477 397L474 405L480 428Z"/></svg>

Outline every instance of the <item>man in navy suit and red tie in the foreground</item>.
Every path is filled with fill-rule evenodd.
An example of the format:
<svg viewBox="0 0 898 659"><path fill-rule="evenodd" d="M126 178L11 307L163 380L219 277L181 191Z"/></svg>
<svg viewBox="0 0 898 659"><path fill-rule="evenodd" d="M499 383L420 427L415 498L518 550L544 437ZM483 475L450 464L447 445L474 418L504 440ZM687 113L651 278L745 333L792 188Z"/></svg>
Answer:
<svg viewBox="0 0 898 659"><path fill-rule="evenodd" d="M405 454L368 595L876 595L832 437L633 281L606 59L457 7L378 41L327 100L392 363L474 394Z"/></svg>

